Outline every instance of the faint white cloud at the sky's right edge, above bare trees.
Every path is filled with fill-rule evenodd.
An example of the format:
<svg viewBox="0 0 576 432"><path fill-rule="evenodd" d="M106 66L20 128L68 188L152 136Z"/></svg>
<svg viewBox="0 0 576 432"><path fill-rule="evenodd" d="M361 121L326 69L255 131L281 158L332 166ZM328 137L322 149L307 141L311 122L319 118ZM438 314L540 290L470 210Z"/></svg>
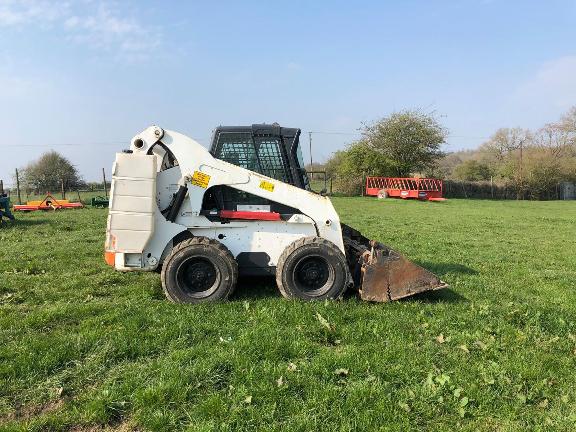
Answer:
<svg viewBox="0 0 576 432"><path fill-rule="evenodd" d="M576 55L545 62L533 77L514 90L512 98L542 108L568 109L576 103L575 77Z"/></svg>

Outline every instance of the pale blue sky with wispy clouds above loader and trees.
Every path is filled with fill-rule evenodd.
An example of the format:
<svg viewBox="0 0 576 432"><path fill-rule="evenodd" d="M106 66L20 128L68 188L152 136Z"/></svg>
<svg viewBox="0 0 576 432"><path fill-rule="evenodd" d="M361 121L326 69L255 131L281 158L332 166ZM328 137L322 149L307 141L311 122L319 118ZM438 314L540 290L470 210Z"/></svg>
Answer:
<svg viewBox="0 0 576 432"><path fill-rule="evenodd" d="M433 103L449 149L475 147L457 137L576 104L575 18L574 1L0 0L0 179L51 148L99 179L150 124L207 145L218 124L353 134ZM320 161L355 136L312 138Z"/></svg>

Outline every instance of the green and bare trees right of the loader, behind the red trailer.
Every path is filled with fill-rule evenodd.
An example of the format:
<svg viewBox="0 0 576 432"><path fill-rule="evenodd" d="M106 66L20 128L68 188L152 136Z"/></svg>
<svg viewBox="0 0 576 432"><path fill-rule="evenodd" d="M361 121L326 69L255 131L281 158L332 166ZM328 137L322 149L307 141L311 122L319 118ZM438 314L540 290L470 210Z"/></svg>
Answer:
<svg viewBox="0 0 576 432"><path fill-rule="evenodd" d="M477 149L456 153L445 151L450 132L440 119L417 108L362 123L361 138L321 167L339 190L354 194L366 176L513 181L518 196L530 199L576 180L576 106L535 131L502 127Z"/></svg>

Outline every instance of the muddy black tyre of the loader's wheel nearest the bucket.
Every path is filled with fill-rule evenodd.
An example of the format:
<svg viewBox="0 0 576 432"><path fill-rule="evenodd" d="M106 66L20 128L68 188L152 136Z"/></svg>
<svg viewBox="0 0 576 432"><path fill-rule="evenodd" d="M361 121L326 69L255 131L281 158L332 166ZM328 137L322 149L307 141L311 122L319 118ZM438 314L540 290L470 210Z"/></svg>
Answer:
<svg viewBox="0 0 576 432"><path fill-rule="evenodd" d="M324 267L329 273L324 285L315 290L305 289L305 284L300 282L296 275L304 272L303 269L299 271L299 268L308 265L310 260L319 263L312 264L313 266ZM306 301L339 298L346 289L347 282L346 257L334 243L320 237L302 237L293 241L282 251L276 265L276 283L286 298Z"/></svg>

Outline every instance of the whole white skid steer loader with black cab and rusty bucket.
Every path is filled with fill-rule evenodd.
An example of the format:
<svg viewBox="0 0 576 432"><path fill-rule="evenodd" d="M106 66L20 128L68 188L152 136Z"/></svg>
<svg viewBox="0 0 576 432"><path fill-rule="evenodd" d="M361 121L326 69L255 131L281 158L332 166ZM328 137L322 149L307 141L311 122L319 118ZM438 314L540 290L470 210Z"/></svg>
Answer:
<svg viewBox="0 0 576 432"><path fill-rule="evenodd" d="M217 127L210 150L150 126L116 154L105 258L161 272L169 300L226 300L238 275L275 275L287 298L389 301L446 285L340 223L310 190L300 129ZM324 191L325 192L325 191Z"/></svg>

